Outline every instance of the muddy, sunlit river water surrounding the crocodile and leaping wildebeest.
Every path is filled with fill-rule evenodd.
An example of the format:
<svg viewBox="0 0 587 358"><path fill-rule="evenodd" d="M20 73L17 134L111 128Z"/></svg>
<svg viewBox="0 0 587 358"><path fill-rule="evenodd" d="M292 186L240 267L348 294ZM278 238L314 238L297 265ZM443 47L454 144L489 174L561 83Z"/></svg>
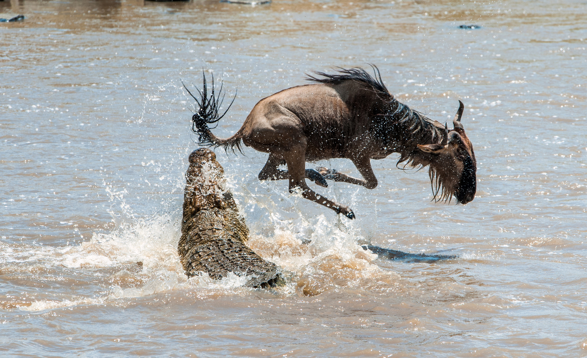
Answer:
<svg viewBox="0 0 587 358"><path fill-rule="evenodd" d="M2 356L587 355L585 5L0 2L26 16L0 24ZM372 161L374 190L315 187L350 221L259 182L266 154L217 150L249 245L287 283L188 280L177 241L197 144L181 80L201 86L204 69L238 89L214 131L228 137L304 73L367 63L433 119L464 102L475 200L431 202L427 171L393 154ZM389 261L367 243L457 258Z"/></svg>

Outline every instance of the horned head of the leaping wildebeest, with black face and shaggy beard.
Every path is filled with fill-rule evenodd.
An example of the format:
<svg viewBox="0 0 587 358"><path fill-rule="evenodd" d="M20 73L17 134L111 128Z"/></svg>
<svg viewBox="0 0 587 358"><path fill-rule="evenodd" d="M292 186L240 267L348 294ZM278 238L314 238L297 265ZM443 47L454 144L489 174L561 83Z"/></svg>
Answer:
<svg viewBox="0 0 587 358"><path fill-rule="evenodd" d="M473 145L465 134L461 117L463 102L458 101L457 114L454 116L454 129L448 130L440 144L418 144L430 165L429 174L434 192L434 199L448 200L453 197L461 204L467 204L475 198L477 191L477 161ZM437 197L438 191L440 196Z"/></svg>

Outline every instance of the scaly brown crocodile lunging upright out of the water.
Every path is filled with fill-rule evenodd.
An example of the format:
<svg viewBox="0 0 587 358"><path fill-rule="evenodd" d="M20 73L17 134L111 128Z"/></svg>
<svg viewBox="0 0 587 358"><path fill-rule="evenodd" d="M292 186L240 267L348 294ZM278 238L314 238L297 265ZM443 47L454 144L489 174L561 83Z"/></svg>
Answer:
<svg viewBox="0 0 587 358"><path fill-rule="evenodd" d="M234 272L247 276L245 286L275 286L280 273L245 245L249 229L224 187L224 169L207 148L190 154L185 174L183 219L177 251L188 276L207 272L221 279Z"/></svg>

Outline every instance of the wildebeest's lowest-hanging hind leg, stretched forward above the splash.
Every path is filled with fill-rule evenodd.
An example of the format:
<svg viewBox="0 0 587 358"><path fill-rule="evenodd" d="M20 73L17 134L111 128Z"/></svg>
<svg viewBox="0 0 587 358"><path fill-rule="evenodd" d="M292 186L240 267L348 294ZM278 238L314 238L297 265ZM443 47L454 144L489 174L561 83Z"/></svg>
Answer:
<svg viewBox="0 0 587 358"><path fill-rule="evenodd" d="M284 158L289 170L289 192L294 192L296 188L302 191L302 196L306 199L317 202L320 205L324 205L334 211L337 214L344 214L349 219L355 218L355 213L348 207L345 207L336 202L330 201L322 195L316 194L306 184L305 179L305 152L304 151L293 151L291 153L284 153Z"/></svg>

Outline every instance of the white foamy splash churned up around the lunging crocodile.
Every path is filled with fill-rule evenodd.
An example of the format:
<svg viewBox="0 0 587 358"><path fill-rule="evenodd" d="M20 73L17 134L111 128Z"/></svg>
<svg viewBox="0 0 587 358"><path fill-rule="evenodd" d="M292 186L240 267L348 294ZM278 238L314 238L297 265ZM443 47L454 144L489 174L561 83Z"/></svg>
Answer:
<svg viewBox="0 0 587 358"><path fill-rule="evenodd" d="M365 279L389 281L399 277L396 273L380 269L373 262L377 255L357 244L357 237L361 238L360 234L364 231L354 228L353 222L341 221L339 217L323 213L304 215L303 208L298 206L298 198L295 195L290 198L295 208L293 215L297 218L292 219L291 211L286 212L269 198L266 199L266 205L261 205L262 210L268 212L269 221L261 222L255 217L257 215L247 218L251 232L261 228L260 231L265 233L252 234L248 245L263 258L292 273L288 277L294 281L286 283L286 287L282 288L285 294L299 294L296 288L302 286L304 294L318 294L330 286L336 286L332 279L335 276L337 285L345 280L348 285L361 285L360 282L364 283ZM303 198L302 203L306 204ZM257 205L255 207L259 208ZM112 275L119 275L122 281L114 280L119 276L112 276L111 281L117 284L112 285L106 293L97 292L92 298L38 300L21 308L29 311L107 304L121 298L177 290L197 289L198 295L212 292L246 294L251 290L241 288L248 279L234 273L221 280L212 280L206 274L188 279L177 254L180 231L180 212L176 211L174 214L150 218L128 218L119 222L114 231L94 233L89 241L76 246L51 248L24 245L16 248L0 244L0 255L6 262L33 261L45 266L61 265L70 269L121 266ZM300 237L310 240L309 244L302 244ZM140 272L133 273L122 267L136 265L138 261L143 262ZM125 285L128 283L125 279L132 284Z"/></svg>

